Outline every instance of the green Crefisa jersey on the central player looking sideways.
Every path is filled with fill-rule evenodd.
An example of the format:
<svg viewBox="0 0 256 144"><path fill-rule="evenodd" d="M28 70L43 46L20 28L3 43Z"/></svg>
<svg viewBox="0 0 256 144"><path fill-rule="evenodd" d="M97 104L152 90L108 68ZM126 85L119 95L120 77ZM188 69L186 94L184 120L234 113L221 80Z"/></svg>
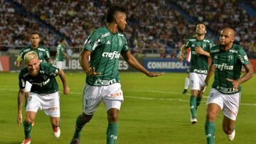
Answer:
<svg viewBox="0 0 256 144"><path fill-rule="evenodd" d="M127 40L122 33L112 33L106 27L98 28L85 40L85 50L91 52L90 67L102 75L87 76L89 85L102 86L119 82L119 56L127 52Z"/></svg>

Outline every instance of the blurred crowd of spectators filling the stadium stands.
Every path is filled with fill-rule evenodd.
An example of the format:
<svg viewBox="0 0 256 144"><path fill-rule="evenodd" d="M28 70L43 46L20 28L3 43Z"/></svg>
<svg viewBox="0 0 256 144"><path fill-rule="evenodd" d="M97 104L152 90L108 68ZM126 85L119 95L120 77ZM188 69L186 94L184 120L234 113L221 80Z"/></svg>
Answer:
<svg viewBox="0 0 256 144"><path fill-rule="evenodd" d="M107 7L117 3L116 0L15 2L25 11L36 13L41 21L63 33L74 47L82 46L92 29L102 26ZM124 34L133 52L155 51L160 52L161 57L176 57L181 45L189 35L193 35L193 28L200 22L205 23L214 35L218 35L220 29L225 26L234 28L238 32L236 40L245 48L248 55L256 55L256 21L244 9L240 9L238 1L224 3L197 0L195 3L189 0L124 0L121 3L127 8L129 26ZM191 23L181 16L180 12L171 8L171 4L186 12L196 23ZM27 45L28 33L31 31L40 31L44 45L58 45L59 35L26 13L17 13L9 2L1 0L0 11L1 45ZM240 20L243 22L240 23Z"/></svg>

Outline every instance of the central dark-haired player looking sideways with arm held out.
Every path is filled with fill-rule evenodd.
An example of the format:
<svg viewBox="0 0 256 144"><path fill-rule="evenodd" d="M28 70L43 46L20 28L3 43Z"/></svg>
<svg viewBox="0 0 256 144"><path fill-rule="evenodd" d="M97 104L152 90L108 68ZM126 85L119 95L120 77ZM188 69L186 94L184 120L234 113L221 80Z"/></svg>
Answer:
<svg viewBox="0 0 256 144"><path fill-rule="evenodd" d="M75 133L71 143L79 143L80 131L103 101L107 111L107 144L114 144L118 136L118 115L123 93L119 84L119 56L122 55L129 65L140 70L148 77L158 77L162 73L147 71L132 56L127 47L123 32L127 26L125 9L111 6L107 11L107 26L98 28L85 40L80 53L80 64L87 75L83 89L83 111L76 119ZM89 65L90 57L90 65Z"/></svg>

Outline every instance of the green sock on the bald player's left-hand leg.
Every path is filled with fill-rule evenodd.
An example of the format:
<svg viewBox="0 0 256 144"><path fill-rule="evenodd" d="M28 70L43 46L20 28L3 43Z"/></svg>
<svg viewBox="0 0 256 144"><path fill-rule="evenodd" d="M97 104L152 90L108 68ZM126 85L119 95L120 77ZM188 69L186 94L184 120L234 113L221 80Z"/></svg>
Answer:
<svg viewBox="0 0 256 144"><path fill-rule="evenodd" d="M205 131L206 131L207 144L214 144L215 143L215 135L214 135L215 123L206 121Z"/></svg>

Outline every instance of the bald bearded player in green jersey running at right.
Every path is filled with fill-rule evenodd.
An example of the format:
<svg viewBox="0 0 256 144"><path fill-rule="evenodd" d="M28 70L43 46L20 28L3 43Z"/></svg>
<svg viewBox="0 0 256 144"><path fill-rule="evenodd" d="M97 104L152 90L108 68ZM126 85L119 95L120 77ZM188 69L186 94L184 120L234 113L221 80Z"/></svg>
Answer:
<svg viewBox="0 0 256 144"><path fill-rule="evenodd" d="M240 45L235 45L235 31L224 28L220 32L219 45L210 50L212 63L205 84L208 85L210 75L215 70L215 77L208 96L206 114L206 138L208 144L215 143L215 119L220 110L223 111L223 131L229 140L235 138L235 119L238 116L241 98L240 84L253 76L252 66ZM241 75L242 66L245 74Z"/></svg>

